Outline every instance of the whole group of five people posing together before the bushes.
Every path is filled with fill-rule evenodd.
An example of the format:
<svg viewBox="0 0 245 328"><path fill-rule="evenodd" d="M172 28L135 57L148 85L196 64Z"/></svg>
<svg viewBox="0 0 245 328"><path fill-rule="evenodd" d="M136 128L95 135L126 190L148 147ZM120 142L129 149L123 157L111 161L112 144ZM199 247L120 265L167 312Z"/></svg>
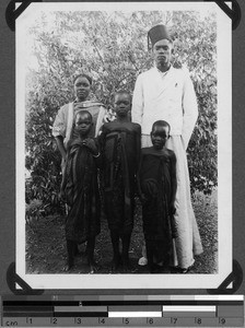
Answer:
<svg viewBox="0 0 245 328"><path fill-rule="evenodd" d="M129 247L136 195L142 206L144 244L139 263L149 272L178 268L187 272L202 253L189 187L186 149L198 116L192 82L172 66L173 40L164 25L148 33L155 66L137 78L131 99L114 94L116 119L103 104L89 99L92 78L74 78L75 99L62 106L52 134L62 156L60 196L67 204L69 271L78 245L86 243L91 272L101 213L107 218L113 270L130 268ZM119 247L120 242L122 247ZM121 250L120 250L121 248Z"/></svg>

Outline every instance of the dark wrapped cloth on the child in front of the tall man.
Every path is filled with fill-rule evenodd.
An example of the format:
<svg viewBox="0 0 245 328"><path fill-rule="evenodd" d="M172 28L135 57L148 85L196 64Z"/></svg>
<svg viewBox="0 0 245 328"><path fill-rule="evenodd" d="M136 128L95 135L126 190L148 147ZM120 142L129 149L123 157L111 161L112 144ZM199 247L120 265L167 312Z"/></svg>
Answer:
<svg viewBox="0 0 245 328"><path fill-rule="evenodd" d="M145 197L142 204L144 238L153 245L156 262L170 260L172 250L172 224L168 206L172 197L172 167L176 157L173 151L141 151L139 169L140 189Z"/></svg>

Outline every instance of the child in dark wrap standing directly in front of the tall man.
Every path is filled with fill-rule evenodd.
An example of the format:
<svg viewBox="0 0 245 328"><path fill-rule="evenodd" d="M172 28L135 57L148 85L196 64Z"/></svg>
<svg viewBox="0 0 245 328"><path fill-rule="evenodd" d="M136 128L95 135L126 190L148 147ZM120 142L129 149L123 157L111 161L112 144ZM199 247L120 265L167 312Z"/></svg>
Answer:
<svg viewBox="0 0 245 328"><path fill-rule="evenodd" d="M152 147L141 150L138 173L142 201L143 232L148 265L151 273L161 272L170 266L173 237L176 237L174 222L176 180L176 156L165 143L170 137L170 125L158 120L152 126Z"/></svg>

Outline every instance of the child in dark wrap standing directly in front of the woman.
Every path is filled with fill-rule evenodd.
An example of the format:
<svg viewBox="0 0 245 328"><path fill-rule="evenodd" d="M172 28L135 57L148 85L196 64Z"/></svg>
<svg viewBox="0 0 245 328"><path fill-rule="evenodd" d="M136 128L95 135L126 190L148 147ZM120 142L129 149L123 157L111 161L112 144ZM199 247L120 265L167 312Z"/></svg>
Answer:
<svg viewBox="0 0 245 328"><path fill-rule="evenodd" d="M95 236L101 231L100 192L97 166L98 145L89 137L93 126L92 115L81 110L74 119L74 138L68 142L65 174L61 183L61 197L68 204L66 239L68 261L65 271L74 265L77 245L88 242L86 254L91 272L97 267L94 261Z"/></svg>

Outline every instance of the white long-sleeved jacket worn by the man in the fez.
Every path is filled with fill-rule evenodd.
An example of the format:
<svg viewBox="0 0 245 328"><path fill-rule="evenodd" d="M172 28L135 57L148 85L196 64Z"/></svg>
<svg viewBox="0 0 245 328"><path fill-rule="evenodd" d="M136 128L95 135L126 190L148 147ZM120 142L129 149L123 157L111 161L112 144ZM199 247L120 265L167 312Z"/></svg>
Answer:
<svg viewBox="0 0 245 328"><path fill-rule="evenodd" d="M187 149L197 117L196 94L189 74L173 67L162 74L155 67L139 74L132 97L132 121L150 134L155 120L171 125L171 136L182 136Z"/></svg>

